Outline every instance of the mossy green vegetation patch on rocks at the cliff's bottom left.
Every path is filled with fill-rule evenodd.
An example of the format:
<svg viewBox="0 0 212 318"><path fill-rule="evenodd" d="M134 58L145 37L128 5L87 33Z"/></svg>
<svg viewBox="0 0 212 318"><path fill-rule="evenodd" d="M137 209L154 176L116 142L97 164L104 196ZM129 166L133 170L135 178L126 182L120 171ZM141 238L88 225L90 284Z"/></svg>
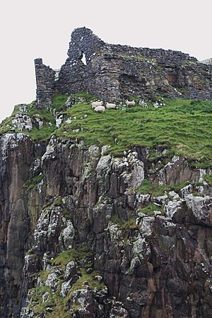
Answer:
<svg viewBox="0 0 212 318"><path fill-rule="evenodd" d="M54 259L49 259L49 269L40 271L40 286L31 288L30 305L29 309L33 311L35 317L40 317L40 314L45 314L45 317L58 317L68 318L70 317L69 307L73 293L77 290L83 290L86 286L89 286L90 290L102 290L105 287L104 283L100 283L95 277L99 276L98 271L87 272L92 267L93 254L90 252L86 244L81 245L78 249L68 249L61 252ZM67 264L72 261L73 264L78 264L78 271L76 272L76 281L73 281L69 286L69 293L66 297L61 295L61 285L65 283L64 271ZM59 273L57 277L57 288L52 290L51 280L50 285L48 283L49 276L54 273ZM71 306L71 312L74 313L80 309L80 304L73 304Z"/></svg>

